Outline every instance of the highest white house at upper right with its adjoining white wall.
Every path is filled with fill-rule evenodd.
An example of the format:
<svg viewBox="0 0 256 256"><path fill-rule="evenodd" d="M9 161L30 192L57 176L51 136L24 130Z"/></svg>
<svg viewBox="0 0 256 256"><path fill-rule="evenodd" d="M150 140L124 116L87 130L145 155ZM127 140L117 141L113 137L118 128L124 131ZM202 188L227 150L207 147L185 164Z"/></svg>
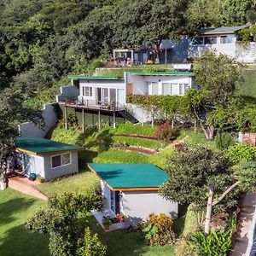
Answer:
<svg viewBox="0 0 256 256"><path fill-rule="evenodd" d="M238 32L246 27L248 26L226 26L198 30L189 38L188 57L200 57L206 50L216 50L236 61L253 62L256 59L255 43L239 44Z"/></svg>

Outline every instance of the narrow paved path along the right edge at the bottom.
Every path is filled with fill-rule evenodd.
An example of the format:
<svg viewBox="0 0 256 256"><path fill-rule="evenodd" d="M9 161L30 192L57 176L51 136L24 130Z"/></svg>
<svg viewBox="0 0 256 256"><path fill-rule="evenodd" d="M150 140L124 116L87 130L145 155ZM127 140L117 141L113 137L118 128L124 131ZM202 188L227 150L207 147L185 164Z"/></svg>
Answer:
<svg viewBox="0 0 256 256"><path fill-rule="evenodd" d="M249 236L253 236L253 215L256 207L256 192L244 198L237 224L236 244L231 256L247 256Z"/></svg>

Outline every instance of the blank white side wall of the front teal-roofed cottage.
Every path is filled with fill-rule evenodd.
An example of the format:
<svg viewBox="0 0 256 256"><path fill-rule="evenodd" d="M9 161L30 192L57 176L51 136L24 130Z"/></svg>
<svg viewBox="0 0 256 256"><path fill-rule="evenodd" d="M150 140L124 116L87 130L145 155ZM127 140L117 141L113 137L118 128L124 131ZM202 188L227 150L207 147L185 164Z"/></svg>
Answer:
<svg viewBox="0 0 256 256"><path fill-rule="evenodd" d="M177 218L177 203L166 201L158 191L122 192L123 213L131 219L146 220L150 213L166 213Z"/></svg>

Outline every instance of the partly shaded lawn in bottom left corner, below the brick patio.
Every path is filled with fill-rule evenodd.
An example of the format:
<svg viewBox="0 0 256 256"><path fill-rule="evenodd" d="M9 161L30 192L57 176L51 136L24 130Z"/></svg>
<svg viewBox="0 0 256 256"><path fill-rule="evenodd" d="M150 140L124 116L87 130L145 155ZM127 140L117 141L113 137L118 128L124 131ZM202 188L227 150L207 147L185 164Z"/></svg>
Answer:
<svg viewBox="0 0 256 256"><path fill-rule="evenodd" d="M0 255L49 255L48 236L32 233L24 226L26 219L46 204L13 189L0 191Z"/></svg>

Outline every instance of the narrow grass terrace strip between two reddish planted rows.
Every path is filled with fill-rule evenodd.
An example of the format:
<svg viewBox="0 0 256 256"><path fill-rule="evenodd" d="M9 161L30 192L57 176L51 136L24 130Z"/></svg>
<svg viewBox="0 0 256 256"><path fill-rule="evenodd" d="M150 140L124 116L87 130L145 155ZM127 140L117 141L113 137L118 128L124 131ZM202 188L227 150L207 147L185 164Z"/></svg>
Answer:
<svg viewBox="0 0 256 256"><path fill-rule="evenodd" d="M126 146L137 146L144 148L163 148L163 143L161 143L160 141L140 137L113 136L113 142L125 144Z"/></svg>

